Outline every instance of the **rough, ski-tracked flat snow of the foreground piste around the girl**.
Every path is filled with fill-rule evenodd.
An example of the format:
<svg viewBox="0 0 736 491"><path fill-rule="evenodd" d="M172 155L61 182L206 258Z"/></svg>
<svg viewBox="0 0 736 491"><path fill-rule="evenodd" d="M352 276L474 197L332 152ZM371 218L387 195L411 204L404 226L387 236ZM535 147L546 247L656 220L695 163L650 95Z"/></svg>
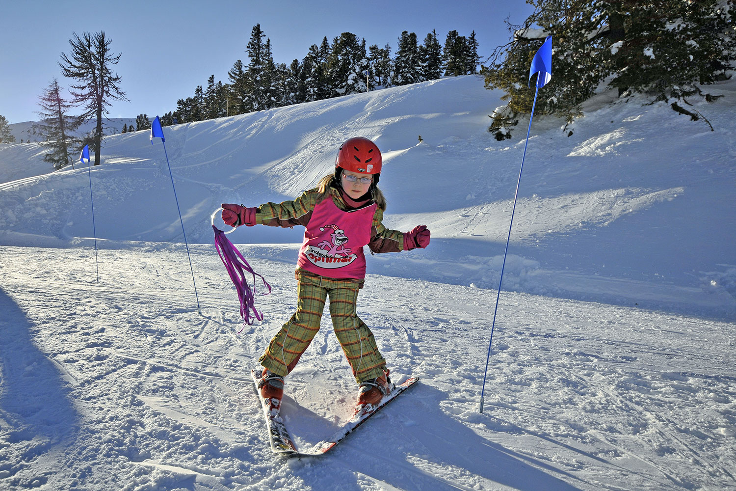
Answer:
<svg viewBox="0 0 736 491"><path fill-rule="evenodd" d="M100 250L99 283L92 250L34 251L43 256L0 252L14 265L0 293L3 398L24 401L2 406L0 484L10 489L734 483L727 322L505 293L478 414L493 292L371 275L361 316L394 378L422 381L329 459L286 461L268 448L247 371L291 313L291 264L252 261L282 287L259 297L263 324L237 335L238 312L220 306L236 295L213 247L194 247L202 316L181 246ZM330 331L327 316L289 376L283 413L297 445L350 417L355 383Z"/></svg>

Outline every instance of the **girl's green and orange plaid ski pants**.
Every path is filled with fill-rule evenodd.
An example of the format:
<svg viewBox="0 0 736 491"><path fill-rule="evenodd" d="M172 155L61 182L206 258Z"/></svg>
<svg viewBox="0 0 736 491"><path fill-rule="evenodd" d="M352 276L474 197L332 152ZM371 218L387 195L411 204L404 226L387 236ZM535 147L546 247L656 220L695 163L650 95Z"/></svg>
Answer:
<svg viewBox="0 0 736 491"><path fill-rule="evenodd" d="M287 375L319 331L325 302L330 298L333 328L355 380L359 382L383 375L386 360L378 352L373 333L355 314L355 301L362 281L335 279L297 271L297 311L266 347L261 365L278 375Z"/></svg>

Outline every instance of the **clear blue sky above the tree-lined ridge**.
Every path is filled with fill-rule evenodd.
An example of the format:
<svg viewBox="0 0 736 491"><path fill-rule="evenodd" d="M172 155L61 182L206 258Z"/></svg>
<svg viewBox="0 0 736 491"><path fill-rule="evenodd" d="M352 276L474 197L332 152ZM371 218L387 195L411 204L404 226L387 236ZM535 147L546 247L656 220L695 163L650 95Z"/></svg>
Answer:
<svg viewBox="0 0 736 491"><path fill-rule="evenodd" d="M37 120L38 97L57 77L73 32L105 31L121 53L117 73L130 102L115 102L111 118L157 116L176 109L208 77L227 82L236 60L247 63L245 47L255 24L271 39L274 60L302 60L309 46L342 32L368 46L389 43L395 53L402 31L420 42L432 29L440 43L447 32L475 30L481 57L509 40L505 18L521 24L531 13L523 0L485 1L13 1L0 15L0 115L12 123ZM68 95L65 90L64 93Z"/></svg>

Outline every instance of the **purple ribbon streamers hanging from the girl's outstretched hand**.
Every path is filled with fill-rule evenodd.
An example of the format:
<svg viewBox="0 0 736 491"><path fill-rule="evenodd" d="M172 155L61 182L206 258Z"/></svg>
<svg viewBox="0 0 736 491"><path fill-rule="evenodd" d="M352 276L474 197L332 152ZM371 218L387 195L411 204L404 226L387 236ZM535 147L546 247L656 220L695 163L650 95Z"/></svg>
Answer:
<svg viewBox="0 0 736 491"><path fill-rule="evenodd" d="M238 251L238 249L230 242L225 233L219 230L214 225L212 226L215 231L215 247L217 253L220 256L222 264L227 269L227 274L230 275L230 279L233 280L235 289L238 292L238 300L240 300L240 317L243 319L243 327L238 333L241 333L246 325L252 325L256 319L263 320L263 314L255 310L255 277L258 276L263 280L263 285L269 289L268 293L271 293L271 285L266 282L266 278L253 271L253 268L248 264L248 261ZM245 273L248 272L253 276L253 289L250 289L247 280L245 279ZM264 293L267 295L268 293ZM250 311L253 311L251 316Z"/></svg>

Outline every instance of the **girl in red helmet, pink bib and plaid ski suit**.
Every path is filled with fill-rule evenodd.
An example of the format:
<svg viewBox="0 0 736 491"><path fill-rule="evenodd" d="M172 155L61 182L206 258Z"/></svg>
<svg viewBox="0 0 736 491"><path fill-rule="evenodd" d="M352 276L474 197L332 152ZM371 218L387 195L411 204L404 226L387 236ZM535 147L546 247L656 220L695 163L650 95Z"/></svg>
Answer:
<svg viewBox="0 0 736 491"><path fill-rule="evenodd" d="M334 173L297 199L253 208L222 204L222 220L233 227L305 227L297 260L297 311L259 359L263 372L258 388L273 408L280 406L284 377L319 331L328 297L333 328L358 381L358 406L375 405L392 390L386 360L373 333L355 313L366 272L363 247L372 252L423 249L430 232L424 225L407 233L383 226L386 199L378 189L381 163L381 151L372 141L350 138L337 152Z"/></svg>

